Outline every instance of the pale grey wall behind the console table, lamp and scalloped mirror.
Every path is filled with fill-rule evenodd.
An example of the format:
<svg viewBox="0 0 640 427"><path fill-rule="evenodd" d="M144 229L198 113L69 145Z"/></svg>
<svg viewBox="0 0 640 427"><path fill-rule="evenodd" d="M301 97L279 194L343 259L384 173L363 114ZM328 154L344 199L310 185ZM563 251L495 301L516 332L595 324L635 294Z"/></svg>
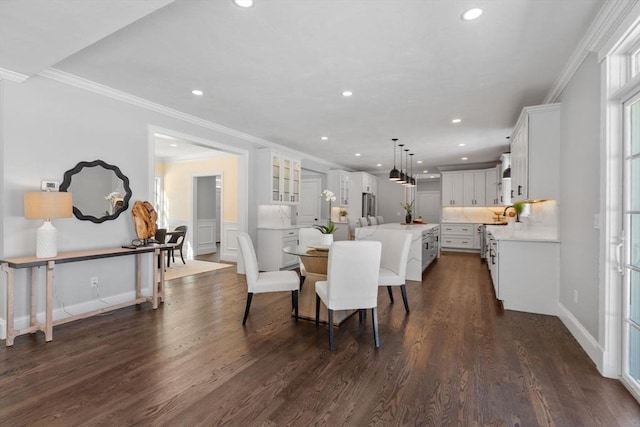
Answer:
<svg viewBox="0 0 640 427"><path fill-rule="evenodd" d="M117 165L129 177L132 202L153 200L150 126L248 150L249 170L254 170L253 147L233 135L44 77L36 76L23 83L3 80L0 87L0 122L3 123L0 230L4 230L0 251L3 257L35 253L36 229L40 222L23 218L23 193L39 189L43 179L61 181L64 172L79 161L101 159ZM248 194L249 206L256 206L253 186L247 182L242 185ZM248 226L255 229L255 209L248 212L248 216ZM240 221L247 222L243 218ZM135 237L131 210L102 224L76 218L53 222L59 233L59 251L119 247ZM150 271L149 264L146 271ZM83 310L88 305L103 304L89 286L91 276L99 276L102 300L123 296L133 291L134 257L71 263L56 268L55 317L66 316L63 305L65 310L78 314L76 310ZM5 281L5 275L1 274L0 298L3 301ZM21 284L17 286L15 306L16 316L20 318L28 308L26 272L16 274L16 283ZM0 334L4 336L4 302L0 307ZM42 307L43 299L40 298L40 311Z"/></svg>

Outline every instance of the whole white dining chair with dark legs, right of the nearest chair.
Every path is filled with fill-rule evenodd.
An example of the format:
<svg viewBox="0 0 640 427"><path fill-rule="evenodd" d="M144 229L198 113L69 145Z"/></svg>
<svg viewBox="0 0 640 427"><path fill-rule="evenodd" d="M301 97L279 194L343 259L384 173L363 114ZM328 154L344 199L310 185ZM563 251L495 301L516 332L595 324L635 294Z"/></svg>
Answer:
<svg viewBox="0 0 640 427"><path fill-rule="evenodd" d="M373 233L358 234L357 239L376 240L382 243L378 283L380 286L387 287L392 304L394 301L391 287L400 286L404 309L408 313L409 301L407 300L406 275L409 249L411 247L411 233L378 229Z"/></svg>

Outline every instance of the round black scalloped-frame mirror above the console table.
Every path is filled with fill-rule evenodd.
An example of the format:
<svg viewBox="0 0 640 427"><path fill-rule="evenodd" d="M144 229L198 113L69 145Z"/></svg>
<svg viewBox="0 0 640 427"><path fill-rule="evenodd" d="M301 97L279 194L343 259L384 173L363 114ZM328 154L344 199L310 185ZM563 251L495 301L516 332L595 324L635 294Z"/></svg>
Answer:
<svg viewBox="0 0 640 427"><path fill-rule="evenodd" d="M102 160L80 162L64 173L60 191L73 194L76 218L101 223L116 219L129 208L129 178Z"/></svg>

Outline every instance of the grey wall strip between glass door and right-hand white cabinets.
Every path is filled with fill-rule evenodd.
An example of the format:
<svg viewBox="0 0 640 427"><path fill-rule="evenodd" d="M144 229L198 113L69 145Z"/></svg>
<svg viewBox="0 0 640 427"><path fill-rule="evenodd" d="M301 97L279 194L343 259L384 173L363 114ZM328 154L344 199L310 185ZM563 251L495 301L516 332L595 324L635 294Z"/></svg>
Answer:
<svg viewBox="0 0 640 427"><path fill-rule="evenodd" d="M562 92L560 303L598 339L600 66L587 57ZM574 302L578 292L578 303Z"/></svg>

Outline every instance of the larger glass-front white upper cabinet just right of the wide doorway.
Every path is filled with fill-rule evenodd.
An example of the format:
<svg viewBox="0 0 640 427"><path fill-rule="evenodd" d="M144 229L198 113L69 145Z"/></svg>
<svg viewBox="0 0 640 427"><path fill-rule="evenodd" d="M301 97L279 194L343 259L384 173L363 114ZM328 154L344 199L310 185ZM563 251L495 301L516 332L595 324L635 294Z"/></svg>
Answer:
<svg viewBox="0 0 640 427"><path fill-rule="evenodd" d="M299 204L300 160L271 149L259 149L256 153L260 203Z"/></svg>

